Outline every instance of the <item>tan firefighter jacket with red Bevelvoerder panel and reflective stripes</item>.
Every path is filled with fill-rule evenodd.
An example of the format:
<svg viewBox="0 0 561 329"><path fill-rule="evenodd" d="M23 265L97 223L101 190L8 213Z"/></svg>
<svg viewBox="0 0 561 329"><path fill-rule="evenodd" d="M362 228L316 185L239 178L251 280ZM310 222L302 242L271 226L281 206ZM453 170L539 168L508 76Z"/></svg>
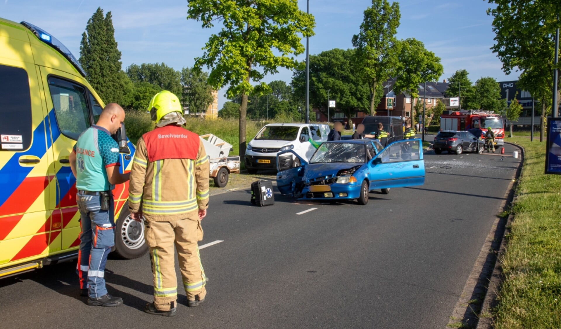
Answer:
<svg viewBox="0 0 561 329"><path fill-rule="evenodd" d="M197 134L174 125L156 128L136 145L128 208L157 222L187 218L208 208L209 173Z"/></svg>

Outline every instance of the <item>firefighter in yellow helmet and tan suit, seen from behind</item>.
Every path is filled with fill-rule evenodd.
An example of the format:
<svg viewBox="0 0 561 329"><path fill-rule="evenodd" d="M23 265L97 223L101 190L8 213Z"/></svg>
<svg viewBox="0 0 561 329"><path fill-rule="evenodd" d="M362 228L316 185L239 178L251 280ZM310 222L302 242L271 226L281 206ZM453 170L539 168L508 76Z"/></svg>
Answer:
<svg viewBox="0 0 561 329"><path fill-rule="evenodd" d="M128 190L131 218L141 221L150 247L154 302L144 311L171 317L176 314L177 249L187 306L205 300L206 277L198 241L201 220L209 201L209 160L199 136L182 128L180 100L169 91L157 93L148 110L156 128L139 139Z"/></svg>

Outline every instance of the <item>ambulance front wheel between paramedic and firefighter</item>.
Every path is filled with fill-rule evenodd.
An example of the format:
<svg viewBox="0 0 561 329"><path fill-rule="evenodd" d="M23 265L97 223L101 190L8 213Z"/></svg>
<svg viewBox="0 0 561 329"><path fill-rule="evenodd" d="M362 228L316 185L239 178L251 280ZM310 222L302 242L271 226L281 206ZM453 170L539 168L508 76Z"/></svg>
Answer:
<svg viewBox="0 0 561 329"><path fill-rule="evenodd" d="M148 251L144 241L144 224L131 219L128 202L121 210L115 227L115 251L121 259L135 259Z"/></svg>

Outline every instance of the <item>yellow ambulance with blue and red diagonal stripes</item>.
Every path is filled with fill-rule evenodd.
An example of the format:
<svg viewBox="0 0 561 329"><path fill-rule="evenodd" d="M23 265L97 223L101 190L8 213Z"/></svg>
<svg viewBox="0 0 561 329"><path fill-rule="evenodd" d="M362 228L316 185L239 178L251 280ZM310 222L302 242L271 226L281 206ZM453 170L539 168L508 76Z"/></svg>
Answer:
<svg viewBox="0 0 561 329"><path fill-rule="evenodd" d="M0 278L77 257L80 214L68 156L103 102L76 58L53 35L0 18ZM116 139L119 139L116 137ZM117 140L121 171L135 148ZM114 253L147 250L128 214L128 183L117 185Z"/></svg>

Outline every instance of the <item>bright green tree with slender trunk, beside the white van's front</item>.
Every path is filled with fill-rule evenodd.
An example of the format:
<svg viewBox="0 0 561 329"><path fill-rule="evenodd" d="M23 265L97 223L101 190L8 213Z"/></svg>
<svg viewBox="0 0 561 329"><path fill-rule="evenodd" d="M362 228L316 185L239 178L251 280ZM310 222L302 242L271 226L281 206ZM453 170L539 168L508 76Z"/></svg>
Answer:
<svg viewBox="0 0 561 329"><path fill-rule="evenodd" d="M204 28L221 22L223 27L210 36L204 54L195 67L210 69L209 83L215 89L228 86L228 97L241 95L240 156L246 149L247 96L254 90L267 91L266 74L279 67L298 66L297 55L304 53L301 36L312 36L314 17L298 8L297 0L187 0L188 16Z"/></svg>

